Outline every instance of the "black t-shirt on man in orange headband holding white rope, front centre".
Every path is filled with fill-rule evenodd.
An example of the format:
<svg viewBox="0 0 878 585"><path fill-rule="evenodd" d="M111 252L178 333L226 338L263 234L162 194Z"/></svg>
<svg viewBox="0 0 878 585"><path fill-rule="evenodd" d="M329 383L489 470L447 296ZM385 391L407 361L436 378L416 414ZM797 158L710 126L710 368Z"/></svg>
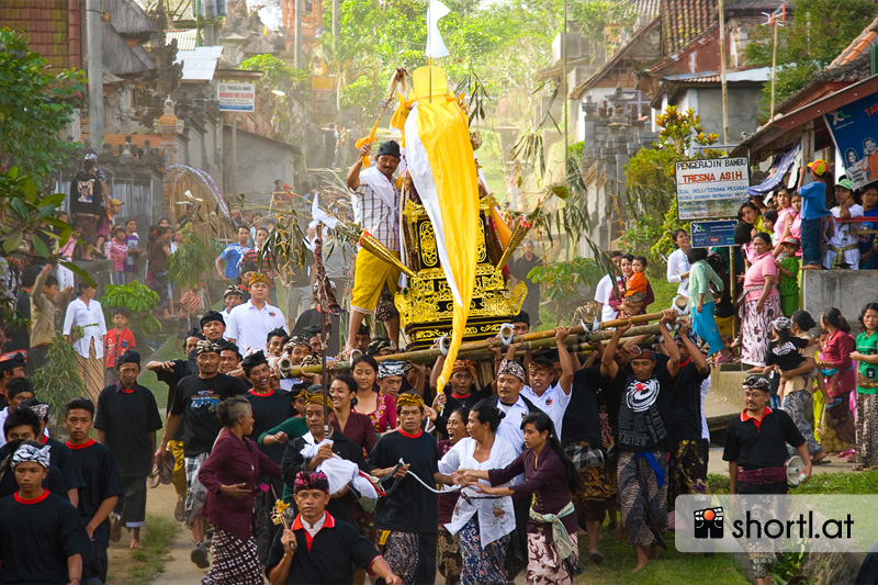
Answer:
<svg viewBox="0 0 878 585"><path fill-rule="evenodd" d="M424 431L417 437L405 436L402 430L385 432L369 455L373 468L393 468L403 459L427 485L436 485L434 475L439 471L436 457L436 439ZM414 477L389 480L384 490L399 482L394 492L379 498L375 507L375 528L401 532L436 532L439 507L436 494L428 492Z"/></svg>

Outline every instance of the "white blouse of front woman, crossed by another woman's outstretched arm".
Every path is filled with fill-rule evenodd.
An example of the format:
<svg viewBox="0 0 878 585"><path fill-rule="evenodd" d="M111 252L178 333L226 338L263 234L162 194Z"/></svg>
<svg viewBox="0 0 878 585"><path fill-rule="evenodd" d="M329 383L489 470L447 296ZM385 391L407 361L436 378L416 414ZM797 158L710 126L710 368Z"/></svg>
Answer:
<svg viewBox="0 0 878 585"><path fill-rule="evenodd" d="M473 457L475 446L475 439L470 437L458 441L458 445L452 447L439 460L439 473L450 474L461 468L484 471L503 469L515 461L517 457L515 449L508 441L494 437L491 455L486 461L480 463ZM479 482L491 485L487 480L479 480ZM502 486L495 485L494 487ZM461 490L460 499L458 499L458 505L454 507L454 515L451 517L451 521L446 525L446 528L452 535L457 535L476 513L479 513L479 538L482 541L483 549L515 530L515 509L513 508L511 496L486 496L477 493L474 486L466 486Z"/></svg>

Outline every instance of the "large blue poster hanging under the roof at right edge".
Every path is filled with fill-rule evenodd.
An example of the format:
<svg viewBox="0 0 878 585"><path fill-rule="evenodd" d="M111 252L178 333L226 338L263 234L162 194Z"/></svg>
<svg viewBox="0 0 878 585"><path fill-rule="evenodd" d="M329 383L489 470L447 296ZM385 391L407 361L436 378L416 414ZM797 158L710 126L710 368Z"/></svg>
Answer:
<svg viewBox="0 0 878 585"><path fill-rule="evenodd" d="M854 189L878 181L878 93L823 116Z"/></svg>

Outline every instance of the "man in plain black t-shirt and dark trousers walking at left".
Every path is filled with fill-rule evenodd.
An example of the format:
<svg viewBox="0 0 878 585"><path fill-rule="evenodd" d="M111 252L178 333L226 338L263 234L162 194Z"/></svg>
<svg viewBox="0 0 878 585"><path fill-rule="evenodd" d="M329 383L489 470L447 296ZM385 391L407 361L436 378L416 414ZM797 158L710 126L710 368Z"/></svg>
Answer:
<svg viewBox="0 0 878 585"><path fill-rule="evenodd" d="M94 418L95 438L113 451L119 463L124 494L111 519L110 537L120 538L124 522L131 535L131 548L140 548L140 528L146 524L146 479L153 469L156 431L161 428L156 397L137 383L140 355L128 350L116 361L119 382L98 396Z"/></svg>

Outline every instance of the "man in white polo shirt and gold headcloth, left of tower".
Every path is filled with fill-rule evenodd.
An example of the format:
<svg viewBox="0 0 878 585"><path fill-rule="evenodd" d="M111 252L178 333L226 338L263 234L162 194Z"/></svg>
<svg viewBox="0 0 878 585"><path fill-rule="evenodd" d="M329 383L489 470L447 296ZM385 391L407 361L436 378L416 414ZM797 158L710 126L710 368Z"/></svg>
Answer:
<svg viewBox="0 0 878 585"><path fill-rule="evenodd" d="M266 351L269 331L278 328L286 330L281 310L268 303L268 277L255 272L249 284L250 300L232 310L226 331L226 339L238 346L244 356L256 350Z"/></svg>

